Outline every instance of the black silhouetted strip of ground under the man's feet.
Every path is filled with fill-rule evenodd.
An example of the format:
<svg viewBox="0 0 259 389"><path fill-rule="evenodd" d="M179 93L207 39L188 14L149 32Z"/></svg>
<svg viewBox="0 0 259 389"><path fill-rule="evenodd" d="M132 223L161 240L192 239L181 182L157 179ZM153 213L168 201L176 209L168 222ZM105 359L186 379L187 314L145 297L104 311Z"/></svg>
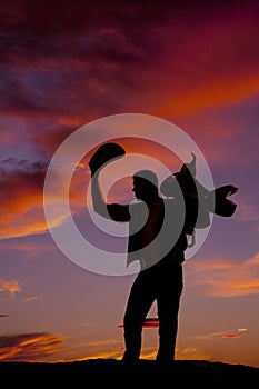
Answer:
<svg viewBox="0 0 259 389"><path fill-rule="evenodd" d="M172 361L169 366L158 366L155 360L140 360L138 366L124 367L117 359L88 359L74 362L0 362L3 382L21 387L89 387L112 386L124 388L246 388L259 380L259 368L243 365L209 362L205 360Z"/></svg>

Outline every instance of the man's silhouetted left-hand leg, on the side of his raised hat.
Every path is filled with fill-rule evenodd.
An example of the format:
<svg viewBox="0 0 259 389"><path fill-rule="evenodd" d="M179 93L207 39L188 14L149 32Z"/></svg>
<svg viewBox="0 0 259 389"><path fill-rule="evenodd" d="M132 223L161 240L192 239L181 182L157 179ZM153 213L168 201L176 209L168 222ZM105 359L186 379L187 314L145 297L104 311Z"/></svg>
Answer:
<svg viewBox="0 0 259 389"><path fill-rule="evenodd" d="M140 357L142 325L153 300L152 280L147 272L141 272L131 287L126 308L123 361L136 361Z"/></svg>

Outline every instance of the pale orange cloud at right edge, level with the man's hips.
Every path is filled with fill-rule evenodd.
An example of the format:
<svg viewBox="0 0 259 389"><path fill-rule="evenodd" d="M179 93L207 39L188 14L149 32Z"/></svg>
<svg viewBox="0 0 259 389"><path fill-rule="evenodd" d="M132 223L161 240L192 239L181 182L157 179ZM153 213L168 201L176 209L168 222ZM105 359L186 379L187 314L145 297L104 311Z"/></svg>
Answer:
<svg viewBox="0 0 259 389"><path fill-rule="evenodd" d="M241 262L222 258L190 261L187 265L189 282L203 293L216 297L236 297L259 293L259 253Z"/></svg>

